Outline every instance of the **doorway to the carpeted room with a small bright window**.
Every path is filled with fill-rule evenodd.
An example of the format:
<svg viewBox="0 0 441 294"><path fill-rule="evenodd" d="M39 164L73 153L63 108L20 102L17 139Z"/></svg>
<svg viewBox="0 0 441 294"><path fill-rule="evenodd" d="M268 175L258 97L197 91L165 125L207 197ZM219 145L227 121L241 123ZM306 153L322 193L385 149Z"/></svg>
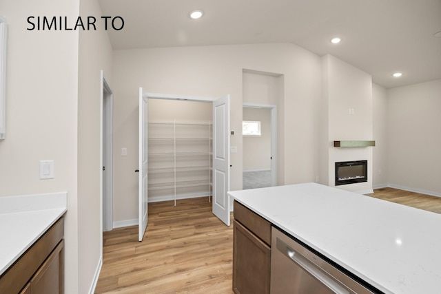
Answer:
<svg viewBox="0 0 441 294"><path fill-rule="evenodd" d="M276 186L276 105L243 104L243 189ZM247 127L251 130L247 131Z"/></svg>

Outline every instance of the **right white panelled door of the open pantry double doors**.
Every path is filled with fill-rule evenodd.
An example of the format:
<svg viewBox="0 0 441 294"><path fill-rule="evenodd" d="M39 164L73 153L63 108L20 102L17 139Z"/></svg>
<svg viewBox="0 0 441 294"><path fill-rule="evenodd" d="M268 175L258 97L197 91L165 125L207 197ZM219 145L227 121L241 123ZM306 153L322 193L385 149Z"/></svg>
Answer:
<svg viewBox="0 0 441 294"><path fill-rule="evenodd" d="M229 95L213 101L213 213L229 226Z"/></svg>

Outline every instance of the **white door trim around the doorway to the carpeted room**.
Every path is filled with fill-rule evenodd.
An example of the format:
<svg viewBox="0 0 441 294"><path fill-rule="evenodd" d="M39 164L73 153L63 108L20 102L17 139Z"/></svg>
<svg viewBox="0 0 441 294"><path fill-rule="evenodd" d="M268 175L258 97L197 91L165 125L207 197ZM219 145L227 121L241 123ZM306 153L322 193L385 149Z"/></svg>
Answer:
<svg viewBox="0 0 441 294"><path fill-rule="evenodd" d="M270 128L271 128L271 186L277 185L277 105L243 103L242 108L265 108L271 109Z"/></svg>

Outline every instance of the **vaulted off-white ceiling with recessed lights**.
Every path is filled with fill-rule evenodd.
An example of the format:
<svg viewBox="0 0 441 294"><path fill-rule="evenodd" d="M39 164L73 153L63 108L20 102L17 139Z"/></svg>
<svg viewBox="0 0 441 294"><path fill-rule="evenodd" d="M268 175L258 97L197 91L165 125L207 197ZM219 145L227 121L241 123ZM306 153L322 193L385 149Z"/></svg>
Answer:
<svg viewBox="0 0 441 294"><path fill-rule="evenodd" d="M122 30L108 31L114 50L289 42L332 54L387 88L441 78L441 0L100 0L100 6L104 16L125 21ZM203 17L190 19L192 10ZM342 39L337 45L334 36Z"/></svg>

